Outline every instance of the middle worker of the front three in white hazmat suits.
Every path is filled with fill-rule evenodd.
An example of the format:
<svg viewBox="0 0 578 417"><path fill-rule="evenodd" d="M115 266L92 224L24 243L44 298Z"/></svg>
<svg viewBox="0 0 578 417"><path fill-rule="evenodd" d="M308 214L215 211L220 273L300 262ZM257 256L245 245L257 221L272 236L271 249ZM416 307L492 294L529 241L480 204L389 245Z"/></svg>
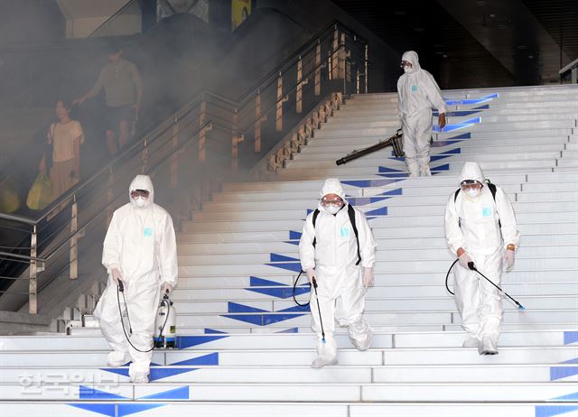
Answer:
<svg viewBox="0 0 578 417"><path fill-rule="evenodd" d="M376 251L368 220L358 209L349 207L338 179L325 181L321 197L314 226L315 212L312 212L305 220L299 242L303 271L310 283L315 280L318 284L322 319L321 323L312 289L312 329L319 338L312 367L337 363L337 344L333 337L335 321L349 328L350 340L359 350L370 347L371 329L362 314L366 288L374 281L372 269ZM354 216L355 225L350 216ZM325 342L322 340L322 324Z"/></svg>

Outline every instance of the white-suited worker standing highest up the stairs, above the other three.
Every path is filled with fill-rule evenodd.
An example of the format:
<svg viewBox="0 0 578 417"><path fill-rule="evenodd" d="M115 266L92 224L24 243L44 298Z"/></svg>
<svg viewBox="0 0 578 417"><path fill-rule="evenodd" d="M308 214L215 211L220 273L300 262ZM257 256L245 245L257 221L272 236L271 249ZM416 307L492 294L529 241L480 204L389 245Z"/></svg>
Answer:
<svg viewBox="0 0 578 417"><path fill-rule="evenodd" d="M415 51L406 51L402 60L412 64L412 68L397 80L397 107L407 170L410 177L427 177L431 175L432 107L445 114L445 102L432 74L419 66Z"/></svg>

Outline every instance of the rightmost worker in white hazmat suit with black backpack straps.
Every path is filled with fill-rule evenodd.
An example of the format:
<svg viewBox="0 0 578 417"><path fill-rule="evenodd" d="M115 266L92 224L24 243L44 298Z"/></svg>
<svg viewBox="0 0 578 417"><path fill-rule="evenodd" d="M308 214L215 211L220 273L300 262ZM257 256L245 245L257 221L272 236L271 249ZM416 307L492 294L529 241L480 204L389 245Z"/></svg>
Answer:
<svg viewBox="0 0 578 417"><path fill-rule="evenodd" d="M445 209L445 235L459 258L454 267L455 302L467 332L463 346L478 347L480 355L494 355L503 315L500 293L468 263L499 285L502 267L514 266L519 243L516 216L506 192L487 183L476 162L465 163L460 184Z"/></svg>

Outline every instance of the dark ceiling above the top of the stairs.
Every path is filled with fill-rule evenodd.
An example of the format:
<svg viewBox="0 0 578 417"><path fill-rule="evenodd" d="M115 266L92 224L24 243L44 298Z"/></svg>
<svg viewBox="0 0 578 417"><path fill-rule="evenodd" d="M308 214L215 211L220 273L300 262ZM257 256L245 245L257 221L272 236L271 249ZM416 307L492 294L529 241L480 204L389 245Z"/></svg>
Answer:
<svg viewBox="0 0 578 417"><path fill-rule="evenodd" d="M578 58L578 0L333 0L442 88L559 82Z"/></svg>

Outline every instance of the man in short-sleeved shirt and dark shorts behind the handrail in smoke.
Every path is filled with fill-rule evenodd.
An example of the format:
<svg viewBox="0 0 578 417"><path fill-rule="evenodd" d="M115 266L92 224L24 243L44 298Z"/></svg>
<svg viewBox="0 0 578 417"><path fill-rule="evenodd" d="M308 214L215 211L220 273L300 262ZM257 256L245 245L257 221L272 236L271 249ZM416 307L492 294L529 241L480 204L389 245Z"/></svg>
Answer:
<svg viewBox="0 0 578 417"><path fill-rule="evenodd" d="M94 87L85 96L74 100L72 105L82 105L87 99L97 96L102 88L105 89L107 146L114 155L118 148L123 148L128 142L135 116L141 107L143 84L135 64L123 59L120 48L111 47L108 60L109 63L100 70Z"/></svg>

